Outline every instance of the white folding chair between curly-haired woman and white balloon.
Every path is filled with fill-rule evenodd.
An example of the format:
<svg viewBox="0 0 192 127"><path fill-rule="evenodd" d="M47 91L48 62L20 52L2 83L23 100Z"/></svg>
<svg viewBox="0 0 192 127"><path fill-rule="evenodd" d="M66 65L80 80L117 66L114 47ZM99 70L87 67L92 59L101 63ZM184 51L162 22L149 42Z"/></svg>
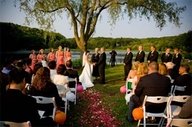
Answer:
<svg viewBox="0 0 192 127"><path fill-rule="evenodd" d="M67 98L63 95L64 92L63 90L65 90L65 86L64 85L57 85L56 84L56 87L57 87L57 90L58 90L58 93L60 95L60 97L62 98L62 100L64 101L64 108L65 108L65 114L67 115L67 107L68 107L68 100Z"/></svg>

